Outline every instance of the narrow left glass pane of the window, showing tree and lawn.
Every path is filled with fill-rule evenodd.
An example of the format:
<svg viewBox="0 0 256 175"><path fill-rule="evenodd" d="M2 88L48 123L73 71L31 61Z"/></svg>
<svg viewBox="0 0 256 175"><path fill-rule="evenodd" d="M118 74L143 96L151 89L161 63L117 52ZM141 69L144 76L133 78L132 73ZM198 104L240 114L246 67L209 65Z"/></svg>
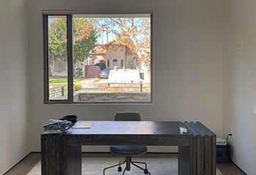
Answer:
<svg viewBox="0 0 256 175"><path fill-rule="evenodd" d="M50 100L67 100L67 17L48 17Z"/></svg>

